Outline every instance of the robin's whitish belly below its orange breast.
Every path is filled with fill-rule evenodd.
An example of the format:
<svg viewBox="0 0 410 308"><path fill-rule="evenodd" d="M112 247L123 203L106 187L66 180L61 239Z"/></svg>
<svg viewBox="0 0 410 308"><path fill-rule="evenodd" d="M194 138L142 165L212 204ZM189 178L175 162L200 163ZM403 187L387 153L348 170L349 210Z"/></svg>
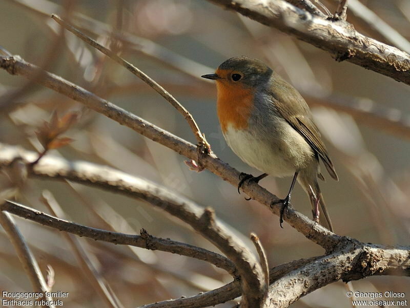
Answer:
<svg viewBox="0 0 410 308"><path fill-rule="evenodd" d="M314 159L310 145L288 126L285 123L283 129L258 138L248 130L228 126L223 136L235 154L248 165L274 177L287 177Z"/></svg>

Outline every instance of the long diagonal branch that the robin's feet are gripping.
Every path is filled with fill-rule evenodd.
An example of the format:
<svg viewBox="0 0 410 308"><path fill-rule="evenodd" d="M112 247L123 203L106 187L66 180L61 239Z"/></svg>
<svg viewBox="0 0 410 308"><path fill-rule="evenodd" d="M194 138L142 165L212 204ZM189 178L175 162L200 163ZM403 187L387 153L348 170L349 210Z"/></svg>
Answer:
<svg viewBox="0 0 410 308"><path fill-rule="evenodd" d="M23 61L18 56L0 56L0 67L7 70L10 74L20 74L26 76L27 78L31 78L33 72L36 71L36 66ZM85 104L87 107L106 115L108 118L118 122L119 124L129 127L142 134L142 136L165 145L183 156L186 156L192 160L197 159L198 150L193 144L175 136L168 131L160 129L150 122L137 117L135 114L101 99L97 97L97 95L73 83L70 83L57 75L47 72L45 74L45 78L38 80L37 82L61 94L67 95L77 102ZM5 148L5 151L7 152L7 148ZM17 153L14 154L17 156L19 155ZM28 161L33 161L36 158L31 156L28 157L30 157ZM45 158L42 160L44 159ZM213 153L210 153L208 156L204 156L201 163L215 175L237 187L240 173L235 168L232 168L228 164L216 158ZM275 215L279 216L281 206L279 204L272 206L272 202L279 201L277 196L271 194L269 191L256 183L245 185L242 187L242 190L252 199L255 199L259 203L267 206ZM297 229L298 232L302 233L304 236L308 237L310 240L319 244L326 250L332 250L340 240L337 235L334 235L321 225L314 223L308 217L298 213L298 211L293 208L288 209L288 215L285 215L284 220Z"/></svg>

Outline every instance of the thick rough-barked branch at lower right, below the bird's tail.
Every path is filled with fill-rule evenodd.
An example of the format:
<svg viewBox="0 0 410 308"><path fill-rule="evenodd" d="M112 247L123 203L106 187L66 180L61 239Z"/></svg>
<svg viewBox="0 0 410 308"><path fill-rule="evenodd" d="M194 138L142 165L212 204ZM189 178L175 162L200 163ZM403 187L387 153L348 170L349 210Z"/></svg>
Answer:
<svg viewBox="0 0 410 308"><path fill-rule="evenodd" d="M346 242L341 251L308 263L271 284L265 307L288 307L300 297L340 279L347 282L387 273L409 276L409 249Z"/></svg>

